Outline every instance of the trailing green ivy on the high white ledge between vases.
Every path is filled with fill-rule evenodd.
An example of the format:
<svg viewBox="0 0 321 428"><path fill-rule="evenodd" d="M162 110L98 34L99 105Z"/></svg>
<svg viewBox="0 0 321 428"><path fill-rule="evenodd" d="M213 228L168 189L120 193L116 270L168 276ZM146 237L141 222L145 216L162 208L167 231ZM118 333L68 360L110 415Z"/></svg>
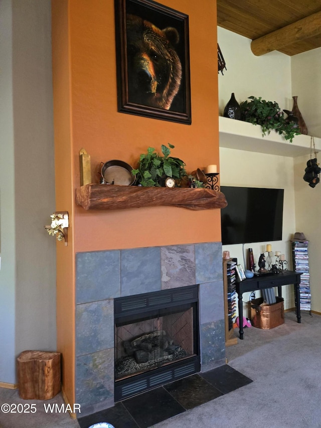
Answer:
<svg viewBox="0 0 321 428"><path fill-rule="evenodd" d="M280 135L292 142L295 135L299 135L300 129L297 123L289 118L284 118L283 111L277 102L266 101L261 97L248 97L251 101L243 101L240 104L242 120L260 125L262 133L269 134L274 129Z"/></svg>

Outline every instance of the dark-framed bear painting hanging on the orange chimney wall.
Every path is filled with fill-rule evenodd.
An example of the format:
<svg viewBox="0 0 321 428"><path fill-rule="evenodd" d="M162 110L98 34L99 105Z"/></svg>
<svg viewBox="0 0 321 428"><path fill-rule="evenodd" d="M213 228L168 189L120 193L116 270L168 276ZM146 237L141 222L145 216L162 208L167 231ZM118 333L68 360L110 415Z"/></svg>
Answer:
<svg viewBox="0 0 321 428"><path fill-rule="evenodd" d="M191 124L189 17L115 0L118 111Z"/></svg>

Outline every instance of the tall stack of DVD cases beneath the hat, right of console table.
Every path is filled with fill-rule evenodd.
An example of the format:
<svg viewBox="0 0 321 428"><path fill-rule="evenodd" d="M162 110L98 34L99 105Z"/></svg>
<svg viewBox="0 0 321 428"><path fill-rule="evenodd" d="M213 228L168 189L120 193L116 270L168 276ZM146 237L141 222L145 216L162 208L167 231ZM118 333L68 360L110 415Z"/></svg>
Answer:
<svg viewBox="0 0 321 428"><path fill-rule="evenodd" d="M311 311L308 241L292 241L293 268L301 274L300 309Z"/></svg>

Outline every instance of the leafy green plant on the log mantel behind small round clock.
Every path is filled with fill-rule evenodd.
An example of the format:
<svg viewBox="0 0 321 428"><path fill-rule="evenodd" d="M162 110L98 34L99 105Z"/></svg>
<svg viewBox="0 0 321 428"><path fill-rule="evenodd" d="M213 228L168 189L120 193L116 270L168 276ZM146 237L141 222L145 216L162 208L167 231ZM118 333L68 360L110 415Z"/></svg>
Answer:
<svg viewBox="0 0 321 428"><path fill-rule="evenodd" d="M155 149L148 147L147 153L140 155L139 166L136 170L132 170L132 174L136 177L136 183L144 186L164 186L167 177L173 177L180 180L186 176L185 163L178 158L170 156L171 149L175 146L168 144L166 147L162 144L163 156L155 153Z"/></svg>

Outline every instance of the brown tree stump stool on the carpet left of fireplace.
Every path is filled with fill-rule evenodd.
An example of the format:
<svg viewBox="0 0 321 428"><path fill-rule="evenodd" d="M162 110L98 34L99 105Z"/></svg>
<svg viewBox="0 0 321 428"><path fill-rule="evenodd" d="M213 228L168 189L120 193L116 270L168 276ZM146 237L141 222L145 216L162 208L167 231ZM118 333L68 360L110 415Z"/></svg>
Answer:
<svg viewBox="0 0 321 428"><path fill-rule="evenodd" d="M19 394L25 400L49 400L61 389L61 354L24 351L18 361Z"/></svg>

